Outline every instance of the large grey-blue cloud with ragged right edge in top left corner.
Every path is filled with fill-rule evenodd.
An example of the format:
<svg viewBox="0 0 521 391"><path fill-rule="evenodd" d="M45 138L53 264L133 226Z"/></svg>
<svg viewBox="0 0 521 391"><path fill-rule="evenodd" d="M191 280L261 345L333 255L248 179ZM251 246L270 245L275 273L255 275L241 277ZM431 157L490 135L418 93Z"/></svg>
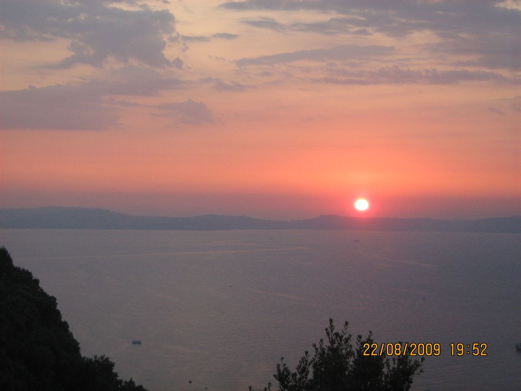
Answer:
<svg viewBox="0 0 521 391"><path fill-rule="evenodd" d="M70 39L73 53L53 68L102 67L108 58L152 67L171 65L165 36L176 33L168 10L125 10L105 2L2 1L2 35L14 40Z"/></svg>

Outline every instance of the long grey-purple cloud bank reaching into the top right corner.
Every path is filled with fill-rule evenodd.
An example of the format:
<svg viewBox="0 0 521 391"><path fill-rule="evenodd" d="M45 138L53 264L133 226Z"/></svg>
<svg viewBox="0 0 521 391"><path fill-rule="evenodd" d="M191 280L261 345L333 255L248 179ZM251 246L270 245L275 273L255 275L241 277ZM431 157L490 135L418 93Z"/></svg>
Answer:
<svg viewBox="0 0 521 391"><path fill-rule="evenodd" d="M250 26L274 31L308 31L322 34L374 32L404 38L430 31L438 42L427 46L433 53L470 54L473 65L521 69L521 11L501 2L421 1L269 1L228 2L220 7L236 11L319 11L340 17L312 23L284 25L273 18L246 20ZM470 65L470 63L469 63Z"/></svg>

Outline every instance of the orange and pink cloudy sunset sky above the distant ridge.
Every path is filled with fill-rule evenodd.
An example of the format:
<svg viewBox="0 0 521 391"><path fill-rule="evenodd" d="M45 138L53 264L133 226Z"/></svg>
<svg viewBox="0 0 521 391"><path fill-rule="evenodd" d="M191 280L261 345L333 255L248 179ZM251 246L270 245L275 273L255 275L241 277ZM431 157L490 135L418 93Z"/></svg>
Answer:
<svg viewBox="0 0 521 391"><path fill-rule="evenodd" d="M1 3L2 207L521 214L519 3L138 3Z"/></svg>

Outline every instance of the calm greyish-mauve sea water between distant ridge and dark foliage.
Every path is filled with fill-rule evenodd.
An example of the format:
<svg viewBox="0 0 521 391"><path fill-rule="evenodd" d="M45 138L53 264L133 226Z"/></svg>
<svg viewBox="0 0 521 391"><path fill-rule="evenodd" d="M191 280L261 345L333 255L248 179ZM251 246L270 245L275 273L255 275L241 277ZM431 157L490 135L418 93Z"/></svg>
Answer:
<svg viewBox="0 0 521 391"><path fill-rule="evenodd" d="M6 229L0 239L56 296L83 355L107 355L150 391L266 385L281 356L294 368L325 336L329 317L377 342L440 343L414 390L521 380L519 235ZM487 343L488 356L452 357L451 342Z"/></svg>

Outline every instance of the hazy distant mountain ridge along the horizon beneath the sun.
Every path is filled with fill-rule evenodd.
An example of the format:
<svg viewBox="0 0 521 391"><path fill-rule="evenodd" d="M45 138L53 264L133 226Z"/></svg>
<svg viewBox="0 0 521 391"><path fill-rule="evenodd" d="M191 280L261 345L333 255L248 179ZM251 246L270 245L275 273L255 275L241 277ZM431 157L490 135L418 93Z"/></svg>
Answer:
<svg viewBox="0 0 521 391"><path fill-rule="evenodd" d="M282 221L248 216L213 214L193 217L133 216L107 209L47 206L35 209L2 209L0 210L0 228L156 230L350 229L521 233L521 216L453 221L431 218L322 215L312 219Z"/></svg>

